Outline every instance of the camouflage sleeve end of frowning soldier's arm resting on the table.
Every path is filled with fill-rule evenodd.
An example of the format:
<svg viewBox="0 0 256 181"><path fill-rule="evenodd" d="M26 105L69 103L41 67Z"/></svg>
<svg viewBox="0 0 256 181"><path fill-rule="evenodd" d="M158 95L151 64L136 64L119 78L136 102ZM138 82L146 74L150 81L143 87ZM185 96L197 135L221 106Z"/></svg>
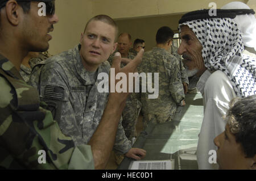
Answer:
<svg viewBox="0 0 256 181"><path fill-rule="evenodd" d="M114 149L119 154L126 154L131 149L131 141L125 136L125 131L122 126L122 117L119 120L117 135L115 136Z"/></svg>

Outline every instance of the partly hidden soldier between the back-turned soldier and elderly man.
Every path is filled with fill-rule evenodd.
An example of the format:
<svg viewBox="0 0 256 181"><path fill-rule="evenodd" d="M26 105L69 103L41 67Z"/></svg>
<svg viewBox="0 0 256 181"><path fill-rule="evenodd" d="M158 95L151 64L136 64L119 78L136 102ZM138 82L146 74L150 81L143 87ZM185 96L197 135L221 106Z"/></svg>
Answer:
<svg viewBox="0 0 256 181"><path fill-rule="evenodd" d="M184 68L183 62L181 60L181 56L177 53L177 47L172 46L171 47L171 54L173 54L177 60L179 61L179 68L180 68L180 73L181 73L181 82L183 84L183 89L184 89L184 93L187 94L188 92L188 85L189 85L189 81L188 81L188 75L186 72L186 69Z"/></svg>

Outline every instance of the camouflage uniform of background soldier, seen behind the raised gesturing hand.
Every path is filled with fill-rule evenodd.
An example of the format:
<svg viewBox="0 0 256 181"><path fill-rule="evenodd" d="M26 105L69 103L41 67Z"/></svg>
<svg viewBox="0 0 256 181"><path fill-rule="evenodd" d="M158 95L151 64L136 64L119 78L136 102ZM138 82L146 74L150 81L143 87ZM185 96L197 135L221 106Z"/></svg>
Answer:
<svg viewBox="0 0 256 181"><path fill-rule="evenodd" d="M110 55L108 59L111 65L112 65L115 52L112 55ZM136 57L136 55L129 52L128 58L133 60ZM121 67L123 68L123 66L125 66L125 64L121 62ZM122 117L123 117L122 126L123 126L123 129L125 130L126 137L130 141L132 140L133 137L137 136L136 124L139 117L139 112L141 112L141 101L139 99L140 99L139 93L135 93L135 92L131 93L126 100L126 106L122 112Z"/></svg>

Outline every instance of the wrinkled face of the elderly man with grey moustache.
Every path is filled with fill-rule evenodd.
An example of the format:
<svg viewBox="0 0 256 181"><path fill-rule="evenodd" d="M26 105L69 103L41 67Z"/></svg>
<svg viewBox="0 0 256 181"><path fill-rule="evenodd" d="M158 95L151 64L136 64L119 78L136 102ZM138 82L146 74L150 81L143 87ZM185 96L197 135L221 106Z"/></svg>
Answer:
<svg viewBox="0 0 256 181"><path fill-rule="evenodd" d="M202 45L195 33L188 27L181 27L181 44L178 53L183 56L184 64L189 70L196 69L197 75L201 75L206 70L202 57Z"/></svg>

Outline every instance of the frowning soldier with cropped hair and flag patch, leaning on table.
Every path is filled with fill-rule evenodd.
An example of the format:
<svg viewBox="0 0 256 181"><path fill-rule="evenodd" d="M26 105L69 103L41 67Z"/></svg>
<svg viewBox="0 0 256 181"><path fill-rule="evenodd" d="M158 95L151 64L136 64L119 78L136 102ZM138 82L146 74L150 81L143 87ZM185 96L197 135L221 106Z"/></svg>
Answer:
<svg viewBox="0 0 256 181"><path fill-rule="evenodd" d="M101 17L104 16L93 18L86 25L81 44L36 65L28 82L38 88L40 98L51 107L61 131L71 136L75 145L88 144L100 124L108 101L109 93L98 91L102 79L97 77L100 73L109 74L110 64L106 60L115 49L109 48L109 42L113 41L114 44L114 36L111 39L111 35L115 35L116 30L114 26L104 23ZM103 28L111 31L107 32ZM131 148L121 120L114 149L127 157L141 151Z"/></svg>

